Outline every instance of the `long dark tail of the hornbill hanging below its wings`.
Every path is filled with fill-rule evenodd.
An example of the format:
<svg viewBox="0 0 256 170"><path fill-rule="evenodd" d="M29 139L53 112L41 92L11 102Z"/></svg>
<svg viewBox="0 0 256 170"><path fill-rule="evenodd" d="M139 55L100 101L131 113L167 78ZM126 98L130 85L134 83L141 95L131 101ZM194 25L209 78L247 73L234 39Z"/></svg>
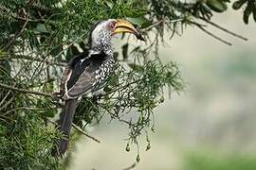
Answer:
<svg viewBox="0 0 256 170"><path fill-rule="evenodd" d="M73 117L76 111L77 99L68 99L64 101L64 109L61 112L58 128L64 134L58 143L58 148L55 154L63 156L68 148L68 138L72 127Z"/></svg>

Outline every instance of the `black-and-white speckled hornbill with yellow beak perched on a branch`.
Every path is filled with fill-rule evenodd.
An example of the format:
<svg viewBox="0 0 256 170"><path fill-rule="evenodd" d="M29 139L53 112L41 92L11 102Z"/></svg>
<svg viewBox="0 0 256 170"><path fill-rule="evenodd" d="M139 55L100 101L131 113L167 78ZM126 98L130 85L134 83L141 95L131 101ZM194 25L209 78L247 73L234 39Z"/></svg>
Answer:
<svg viewBox="0 0 256 170"><path fill-rule="evenodd" d="M115 65L113 35L125 32L143 40L137 29L128 21L108 19L97 23L90 32L89 48L67 64L60 88L64 108L57 123L64 138L58 142L58 149L55 151L58 156L64 155L67 150L78 99L83 94L97 90L105 82Z"/></svg>

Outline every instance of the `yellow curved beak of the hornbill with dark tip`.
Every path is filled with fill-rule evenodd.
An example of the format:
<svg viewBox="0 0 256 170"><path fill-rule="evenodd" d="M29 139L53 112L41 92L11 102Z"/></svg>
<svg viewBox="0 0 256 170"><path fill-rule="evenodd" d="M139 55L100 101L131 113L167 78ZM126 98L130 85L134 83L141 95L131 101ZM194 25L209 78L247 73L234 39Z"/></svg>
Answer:
<svg viewBox="0 0 256 170"><path fill-rule="evenodd" d="M126 20L119 19L118 22L116 23L116 26L115 26L113 32L114 32L114 34L125 33L125 32L132 33L132 34L136 35L137 39L145 41L143 39L143 37L141 36L141 34L138 33L135 26L133 26L130 22L128 22Z"/></svg>

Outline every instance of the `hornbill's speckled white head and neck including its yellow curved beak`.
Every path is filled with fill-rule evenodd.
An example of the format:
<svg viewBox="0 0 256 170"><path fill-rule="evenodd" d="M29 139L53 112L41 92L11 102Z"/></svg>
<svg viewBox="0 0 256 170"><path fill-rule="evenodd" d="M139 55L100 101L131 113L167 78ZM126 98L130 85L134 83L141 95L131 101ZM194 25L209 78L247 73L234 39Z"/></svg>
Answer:
<svg viewBox="0 0 256 170"><path fill-rule="evenodd" d="M89 39L91 48L93 50L105 52L106 54L113 53L113 36L125 32L132 33L137 39L144 41L135 26L128 21L108 19L98 22L93 26Z"/></svg>

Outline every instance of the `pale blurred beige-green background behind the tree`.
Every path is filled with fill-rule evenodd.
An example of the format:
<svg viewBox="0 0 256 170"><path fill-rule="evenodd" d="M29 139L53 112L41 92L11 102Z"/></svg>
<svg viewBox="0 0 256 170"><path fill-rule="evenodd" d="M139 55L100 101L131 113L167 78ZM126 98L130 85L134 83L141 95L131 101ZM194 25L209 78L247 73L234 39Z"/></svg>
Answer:
<svg viewBox="0 0 256 170"><path fill-rule="evenodd" d="M228 46L188 27L182 37L159 46L163 61L179 64L186 90L155 110L152 148L145 151L141 136L141 161L135 169L256 169L256 25L244 25L238 11L215 16L213 21L249 41L211 29L233 43ZM88 129L101 144L82 137L69 169L123 169L136 161L136 145L125 151L128 130L108 119L101 123Z"/></svg>

